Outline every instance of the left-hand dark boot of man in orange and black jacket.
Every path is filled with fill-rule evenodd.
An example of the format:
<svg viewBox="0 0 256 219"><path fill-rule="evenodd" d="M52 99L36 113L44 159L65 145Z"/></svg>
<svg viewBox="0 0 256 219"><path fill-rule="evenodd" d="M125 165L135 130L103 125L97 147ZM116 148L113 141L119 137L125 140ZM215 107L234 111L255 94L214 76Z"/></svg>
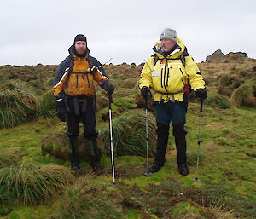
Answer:
<svg viewBox="0 0 256 219"><path fill-rule="evenodd" d="M79 170L79 151L76 137L68 137L68 145L70 149L70 164L71 170Z"/></svg>

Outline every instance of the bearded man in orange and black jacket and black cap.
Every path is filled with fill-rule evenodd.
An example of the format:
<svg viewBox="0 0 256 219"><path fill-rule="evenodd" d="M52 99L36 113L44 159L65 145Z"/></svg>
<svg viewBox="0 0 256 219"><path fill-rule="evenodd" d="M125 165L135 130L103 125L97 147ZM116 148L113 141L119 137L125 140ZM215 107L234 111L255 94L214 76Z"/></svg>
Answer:
<svg viewBox="0 0 256 219"><path fill-rule="evenodd" d="M67 137L70 147L71 169L79 170L77 136L79 121L84 124L84 136L88 142L90 164L94 171L100 170L97 148L95 87L96 81L108 95L113 94L113 85L108 82L104 69L96 58L89 55L87 39L83 34L74 38L67 58L58 66L55 75L55 98L58 117L67 121Z"/></svg>

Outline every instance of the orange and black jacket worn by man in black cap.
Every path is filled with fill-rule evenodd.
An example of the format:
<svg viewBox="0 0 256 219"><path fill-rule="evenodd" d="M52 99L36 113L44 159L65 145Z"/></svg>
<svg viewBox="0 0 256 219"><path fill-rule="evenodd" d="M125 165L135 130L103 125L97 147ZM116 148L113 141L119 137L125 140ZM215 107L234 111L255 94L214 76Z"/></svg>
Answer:
<svg viewBox="0 0 256 219"><path fill-rule="evenodd" d="M55 75L55 96L95 95L94 81L99 85L102 80L108 80L104 69L96 58L89 55L78 57L71 46L69 56L58 66ZM89 51L89 50L88 50ZM94 69L94 71L92 71Z"/></svg>

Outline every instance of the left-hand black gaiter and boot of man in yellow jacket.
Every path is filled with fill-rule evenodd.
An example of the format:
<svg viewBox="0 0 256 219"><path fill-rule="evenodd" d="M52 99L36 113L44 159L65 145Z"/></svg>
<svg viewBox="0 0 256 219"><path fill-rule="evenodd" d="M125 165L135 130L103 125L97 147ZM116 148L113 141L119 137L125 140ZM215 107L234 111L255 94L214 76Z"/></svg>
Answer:
<svg viewBox="0 0 256 219"><path fill-rule="evenodd" d="M159 171L166 161L165 157L169 137L169 125L157 123L156 133L157 144L156 153L154 157L154 164L149 168L147 172L144 173L145 176L150 176L154 172Z"/></svg>

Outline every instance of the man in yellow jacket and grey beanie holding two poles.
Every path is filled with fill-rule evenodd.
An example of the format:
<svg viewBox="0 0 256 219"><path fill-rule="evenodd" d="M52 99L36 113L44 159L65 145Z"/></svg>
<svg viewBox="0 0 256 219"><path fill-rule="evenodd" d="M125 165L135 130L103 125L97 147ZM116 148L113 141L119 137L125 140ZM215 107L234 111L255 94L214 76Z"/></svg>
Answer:
<svg viewBox="0 0 256 219"><path fill-rule="evenodd" d="M186 112L188 104L188 84L195 90L197 97L207 98L205 82L193 58L189 55L183 41L172 29L160 34L155 43L154 55L148 58L141 73L139 86L143 98L148 98L154 89L154 112L157 122L157 146L153 166L145 173L150 176L165 164L169 127L177 149L177 166L183 176L189 174L186 164Z"/></svg>

